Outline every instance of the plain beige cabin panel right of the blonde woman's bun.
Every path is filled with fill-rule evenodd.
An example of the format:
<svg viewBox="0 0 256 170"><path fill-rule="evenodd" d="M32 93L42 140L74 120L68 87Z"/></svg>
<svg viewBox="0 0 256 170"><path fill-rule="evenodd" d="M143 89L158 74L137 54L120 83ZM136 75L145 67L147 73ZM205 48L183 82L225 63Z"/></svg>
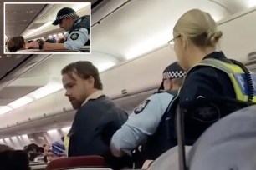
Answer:
<svg viewBox="0 0 256 170"><path fill-rule="evenodd" d="M248 62L248 53L256 51L256 8L247 15L223 23L219 29L223 32L220 47L228 57L239 62Z"/></svg>

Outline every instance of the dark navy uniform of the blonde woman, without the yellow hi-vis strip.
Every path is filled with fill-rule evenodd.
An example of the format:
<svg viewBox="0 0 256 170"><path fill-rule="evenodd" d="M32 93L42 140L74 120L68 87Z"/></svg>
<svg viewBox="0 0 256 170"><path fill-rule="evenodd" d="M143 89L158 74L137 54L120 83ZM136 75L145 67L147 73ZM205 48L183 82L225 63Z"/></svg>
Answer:
<svg viewBox="0 0 256 170"><path fill-rule="evenodd" d="M224 56L223 52L212 52L204 57L204 59L206 58L214 58L230 63L230 60ZM233 89L233 84L225 72L218 70L217 68L207 66L192 68L191 72L187 74L187 77L183 82L183 86L178 97L178 104L181 106L185 115L184 124L186 138L191 138L191 142L189 144L194 143L205 129L211 126L213 122L218 121L218 117L222 117L220 112L215 112L218 107L198 108L202 109L201 111L203 112L200 111L197 112L197 114L194 112L194 109L190 109L190 107L184 105L184 103L195 101L199 97L226 97L236 99L236 94ZM222 107L222 110L228 110L228 107ZM214 111L212 111L213 109ZM197 117L195 117L195 114L197 114Z"/></svg>

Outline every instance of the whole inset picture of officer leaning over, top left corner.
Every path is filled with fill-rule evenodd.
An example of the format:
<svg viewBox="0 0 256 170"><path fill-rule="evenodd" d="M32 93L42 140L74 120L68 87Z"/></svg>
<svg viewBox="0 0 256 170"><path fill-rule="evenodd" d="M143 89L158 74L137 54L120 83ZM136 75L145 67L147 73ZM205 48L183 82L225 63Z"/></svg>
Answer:
<svg viewBox="0 0 256 170"><path fill-rule="evenodd" d="M90 54L90 2L4 3L4 53Z"/></svg>

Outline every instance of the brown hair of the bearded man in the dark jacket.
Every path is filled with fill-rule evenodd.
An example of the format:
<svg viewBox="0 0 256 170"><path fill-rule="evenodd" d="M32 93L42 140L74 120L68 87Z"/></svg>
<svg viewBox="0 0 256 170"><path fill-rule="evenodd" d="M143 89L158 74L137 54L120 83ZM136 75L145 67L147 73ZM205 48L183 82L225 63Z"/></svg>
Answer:
<svg viewBox="0 0 256 170"><path fill-rule="evenodd" d="M76 73L79 77L83 79L88 79L89 77L94 77L95 84L94 87L98 90L102 90L103 86L100 80L100 73L98 69L88 61L79 61L69 63L66 67L61 70L61 74L68 74L69 77L74 78L72 76L72 72Z"/></svg>

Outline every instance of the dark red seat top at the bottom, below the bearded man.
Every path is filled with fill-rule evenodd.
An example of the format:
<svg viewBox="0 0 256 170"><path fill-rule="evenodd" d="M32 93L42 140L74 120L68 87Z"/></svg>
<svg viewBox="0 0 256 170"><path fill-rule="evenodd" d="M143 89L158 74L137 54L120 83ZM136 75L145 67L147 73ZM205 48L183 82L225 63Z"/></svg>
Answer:
<svg viewBox="0 0 256 170"><path fill-rule="evenodd" d="M72 169L72 168L108 168L105 163L105 159L97 156L81 156L81 157L69 157L59 158L51 161L46 170L57 170L57 169Z"/></svg>

